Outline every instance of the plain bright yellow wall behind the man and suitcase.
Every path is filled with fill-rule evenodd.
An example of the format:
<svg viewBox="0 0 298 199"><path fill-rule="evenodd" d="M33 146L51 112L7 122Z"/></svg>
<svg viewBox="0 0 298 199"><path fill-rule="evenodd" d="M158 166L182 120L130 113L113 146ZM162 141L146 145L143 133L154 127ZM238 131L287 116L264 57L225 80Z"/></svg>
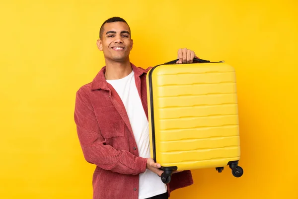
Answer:
<svg viewBox="0 0 298 199"><path fill-rule="evenodd" d="M75 92L94 78L111 16L131 26L141 67L187 47L236 69L244 175L193 171L171 199L298 199L297 0L48 0L0 3L0 198L91 199ZM113 180L113 179L111 179Z"/></svg>

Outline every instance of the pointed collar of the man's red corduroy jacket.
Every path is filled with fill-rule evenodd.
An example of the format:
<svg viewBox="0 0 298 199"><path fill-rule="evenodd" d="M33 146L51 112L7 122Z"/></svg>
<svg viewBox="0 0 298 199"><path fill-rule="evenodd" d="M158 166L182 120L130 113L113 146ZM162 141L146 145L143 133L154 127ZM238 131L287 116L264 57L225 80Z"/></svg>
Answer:
<svg viewBox="0 0 298 199"><path fill-rule="evenodd" d="M143 68L136 67L134 64L131 63L132 69L135 73L135 76L140 77L144 73L147 74L147 71ZM91 83L91 90L109 90L108 83L104 77L104 73L106 71L106 66L102 67L102 69L98 72Z"/></svg>

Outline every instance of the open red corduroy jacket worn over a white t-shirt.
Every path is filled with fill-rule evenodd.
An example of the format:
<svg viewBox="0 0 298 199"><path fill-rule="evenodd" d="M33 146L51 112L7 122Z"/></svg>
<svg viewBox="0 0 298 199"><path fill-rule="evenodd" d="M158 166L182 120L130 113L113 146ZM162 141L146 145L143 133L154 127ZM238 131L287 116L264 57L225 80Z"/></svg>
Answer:
<svg viewBox="0 0 298 199"><path fill-rule="evenodd" d="M148 118L146 74L131 64L136 86ZM87 162L96 165L93 174L93 199L138 199L139 174L147 159L139 157L132 127L122 100L104 77L105 67L94 80L76 93L74 121L80 146ZM190 171L172 174L167 184L173 190L190 186Z"/></svg>

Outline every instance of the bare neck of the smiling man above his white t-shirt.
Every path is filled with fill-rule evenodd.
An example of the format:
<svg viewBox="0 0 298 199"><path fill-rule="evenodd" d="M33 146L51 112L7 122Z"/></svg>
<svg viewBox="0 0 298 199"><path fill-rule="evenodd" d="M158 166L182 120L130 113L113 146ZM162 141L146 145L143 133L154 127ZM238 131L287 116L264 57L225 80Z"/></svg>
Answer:
<svg viewBox="0 0 298 199"><path fill-rule="evenodd" d="M104 77L106 80L119 80L128 76L133 71L130 61L106 62Z"/></svg>

